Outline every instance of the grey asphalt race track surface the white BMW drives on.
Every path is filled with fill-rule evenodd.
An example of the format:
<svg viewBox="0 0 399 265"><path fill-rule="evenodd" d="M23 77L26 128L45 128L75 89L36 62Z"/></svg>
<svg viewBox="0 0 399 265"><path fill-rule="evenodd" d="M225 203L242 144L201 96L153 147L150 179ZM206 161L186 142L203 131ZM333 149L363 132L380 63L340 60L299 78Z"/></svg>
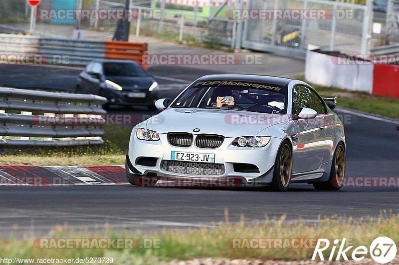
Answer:
<svg viewBox="0 0 399 265"><path fill-rule="evenodd" d="M77 71L79 72L79 71ZM161 86L184 86L183 80L208 74L180 67L158 68L152 72ZM170 78L181 79L167 80ZM163 90L174 96L179 90ZM114 112L124 110L114 110ZM155 114L132 109L130 113ZM347 177L399 177L398 121L337 110L345 123L347 137ZM392 178L391 178L392 179ZM395 178L394 178L395 179ZM0 235L8 236L14 225L18 231L45 233L51 226L68 223L72 227L95 229L105 223L131 230L187 229L206 227L225 220L237 222L265 215L287 220L301 217L315 221L318 216L379 216L383 210L397 214L399 187L345 187L340 191L316 191L311 185L291 185L287 192L257 188L171 188L114 186L1 187Z"/></svg>

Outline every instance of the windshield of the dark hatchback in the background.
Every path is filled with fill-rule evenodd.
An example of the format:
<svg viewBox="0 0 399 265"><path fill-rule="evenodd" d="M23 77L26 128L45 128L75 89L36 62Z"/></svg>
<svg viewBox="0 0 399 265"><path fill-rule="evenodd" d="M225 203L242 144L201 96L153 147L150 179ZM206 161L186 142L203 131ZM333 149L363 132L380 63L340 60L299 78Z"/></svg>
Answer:
<svg viewBox="0 0 399 265"><path fill-rule="evenodd" d="M132 63L104 63L104 75L115 77L147 77L148 73Z"/></svg>

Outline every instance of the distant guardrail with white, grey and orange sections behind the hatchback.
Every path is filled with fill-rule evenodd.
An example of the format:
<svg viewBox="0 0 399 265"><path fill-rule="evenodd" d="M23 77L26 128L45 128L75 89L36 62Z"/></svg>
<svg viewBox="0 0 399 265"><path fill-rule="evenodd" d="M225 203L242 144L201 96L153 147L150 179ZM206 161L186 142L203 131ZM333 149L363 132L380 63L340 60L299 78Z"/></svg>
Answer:
<svg viewBox="0 0 399 265"><path fill-rule="evenodd" d="M146 43L0 34L1 55L41 55L43 63L85 66L95 59L133 60L147 69Z"/></svg>

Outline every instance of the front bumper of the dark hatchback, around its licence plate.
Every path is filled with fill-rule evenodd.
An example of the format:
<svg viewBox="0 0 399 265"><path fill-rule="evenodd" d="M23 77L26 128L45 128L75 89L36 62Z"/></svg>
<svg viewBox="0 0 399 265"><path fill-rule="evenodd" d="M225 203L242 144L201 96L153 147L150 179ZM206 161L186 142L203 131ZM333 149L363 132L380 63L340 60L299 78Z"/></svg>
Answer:
<svg viewBox="0 0 399 265"><path fill-rule="evenodd" d="M145 97L129 97L129 93L145 93ZM101 96L104 96L108 99L108 103L112 105L121 105L121 106L128 106L128 105L145 105L145 106L152 106L154 105L155 101L159 99L159 90L148 91L145 90L112 90L112 89L103 89L100 92Z"/></svg>

